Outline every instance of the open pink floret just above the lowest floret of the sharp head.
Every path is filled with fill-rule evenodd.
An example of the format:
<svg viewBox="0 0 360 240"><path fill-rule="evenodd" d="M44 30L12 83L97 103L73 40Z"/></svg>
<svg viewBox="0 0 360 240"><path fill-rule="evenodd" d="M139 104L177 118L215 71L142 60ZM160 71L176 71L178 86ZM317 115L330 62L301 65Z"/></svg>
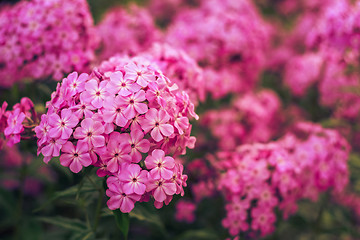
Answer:
<svg viewBox="0 0 360 240"><path fill-rule="evenodd" d="M146 190L147 171L142 170L137 164L130 164L122 170L119 179L124 183L123 190L126 194L143 195Z"/></svg>

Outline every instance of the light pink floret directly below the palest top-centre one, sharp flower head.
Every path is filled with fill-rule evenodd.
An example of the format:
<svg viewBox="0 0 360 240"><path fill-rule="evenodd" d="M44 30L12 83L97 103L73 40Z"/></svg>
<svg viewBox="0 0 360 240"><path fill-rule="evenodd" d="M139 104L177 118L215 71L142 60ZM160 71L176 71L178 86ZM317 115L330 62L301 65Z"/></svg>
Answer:
<svg viewBox="0 0 360 240"><path fill-rule="evenodd" d="M112 123L120 127L125 127L128 122L128 118L124 115L125 107L123 105L123 99L121 96L107 97L104 101L103 118L104 122Z"/></svg>

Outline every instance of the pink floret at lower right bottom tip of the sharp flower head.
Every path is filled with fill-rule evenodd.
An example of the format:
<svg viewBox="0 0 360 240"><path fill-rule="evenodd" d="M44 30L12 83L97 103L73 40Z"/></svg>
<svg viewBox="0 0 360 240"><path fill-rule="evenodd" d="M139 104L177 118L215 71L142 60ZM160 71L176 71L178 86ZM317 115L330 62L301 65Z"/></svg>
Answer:
<svg viewBox="0 0 360 240"><path fill-rule="evenodd" d="M170 180L163 178L153 179L149 178L149 183L146 186L146 191L153 191L155 201L164 202L168 196L172 196L176 193L176 185Z"/></svg>

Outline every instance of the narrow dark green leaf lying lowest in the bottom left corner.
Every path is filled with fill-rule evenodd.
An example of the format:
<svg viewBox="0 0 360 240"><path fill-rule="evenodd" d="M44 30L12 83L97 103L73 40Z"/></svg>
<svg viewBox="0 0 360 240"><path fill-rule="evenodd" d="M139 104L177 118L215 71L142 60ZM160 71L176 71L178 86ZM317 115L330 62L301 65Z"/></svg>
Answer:
<svg viewBox="0 0 360 240"><path fill-rule="evenodd" d="M38 217L39 221L49 223L61 228L65 228L71 231L84 232L88 228L84 222L79 219L65 218L61 216L57 217Z"/></svg>

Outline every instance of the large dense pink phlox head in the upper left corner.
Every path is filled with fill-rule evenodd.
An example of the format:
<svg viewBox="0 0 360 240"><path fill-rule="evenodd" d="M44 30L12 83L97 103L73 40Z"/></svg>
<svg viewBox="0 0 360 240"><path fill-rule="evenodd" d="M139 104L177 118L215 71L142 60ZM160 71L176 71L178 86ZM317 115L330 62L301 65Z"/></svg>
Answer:
<svg viewBox="0 0 360 240"><path fill-rule="evenodd" d="M85 0L20 1L0 9L0 86L84 71L97 45Z"/></svg>

